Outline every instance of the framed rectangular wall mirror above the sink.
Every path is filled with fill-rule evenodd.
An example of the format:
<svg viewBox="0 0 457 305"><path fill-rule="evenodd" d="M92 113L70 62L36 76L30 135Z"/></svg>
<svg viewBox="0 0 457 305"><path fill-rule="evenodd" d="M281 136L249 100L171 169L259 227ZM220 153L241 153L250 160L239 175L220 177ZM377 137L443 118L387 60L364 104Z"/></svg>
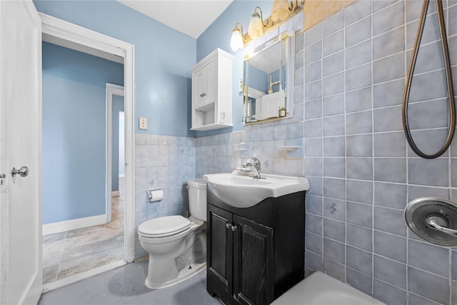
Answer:
<svg viewBox="0 0 457 305"><path fill-rule="evenodd" d="M293 116L293 49L293 36L284 32L244 56L244 124Z"/></svg>

